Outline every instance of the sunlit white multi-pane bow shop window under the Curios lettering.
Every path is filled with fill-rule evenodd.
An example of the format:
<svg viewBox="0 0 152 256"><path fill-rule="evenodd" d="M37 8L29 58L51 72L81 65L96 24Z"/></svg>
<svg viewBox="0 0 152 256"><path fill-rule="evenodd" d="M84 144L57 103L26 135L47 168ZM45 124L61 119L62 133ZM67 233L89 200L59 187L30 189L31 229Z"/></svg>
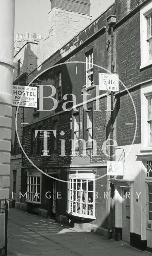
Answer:
<svg viewBox="0 0 152 256"><path fill-rule="evenodd" d="M86 190L83 190L82 184L83 183L85 184L85 181L86 181ZM88 190L89 181L93 182L93 190ZM80 190L78 189L78 184L80 184ZM96 219L95 217L95 173L93 172L78 173L77 171L70 173L68 175L67 191L68 191L67 192L68 194L67 213L68 214L72 216L81 217L81 218ZM79 193L80 193L80 196L77 196ZM90 195L93 194L93 197L92 197L93 202L89 202L89 199L91 200L91 197L88 197L89 193ZM74 199L74 194L75 194L75 199ZM82 200L85 200L85 201L82 201ZM75 210L74 210L74 206L75 206ZM92 209L88 209L88 206L93 207L93 214L90 214ZM88 211L89 211L89 214L88 214Z"/></svg>

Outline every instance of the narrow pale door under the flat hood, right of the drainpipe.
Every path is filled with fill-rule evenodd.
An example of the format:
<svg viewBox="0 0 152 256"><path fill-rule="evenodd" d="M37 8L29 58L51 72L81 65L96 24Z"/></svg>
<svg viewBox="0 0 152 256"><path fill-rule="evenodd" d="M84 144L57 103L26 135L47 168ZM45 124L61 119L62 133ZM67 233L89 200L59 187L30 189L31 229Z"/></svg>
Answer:
<svg viewBox="0 0 152 256"><path fill-rule="evenodd" d="M122 188L122 240L130 243L130 194Z"/></svg>

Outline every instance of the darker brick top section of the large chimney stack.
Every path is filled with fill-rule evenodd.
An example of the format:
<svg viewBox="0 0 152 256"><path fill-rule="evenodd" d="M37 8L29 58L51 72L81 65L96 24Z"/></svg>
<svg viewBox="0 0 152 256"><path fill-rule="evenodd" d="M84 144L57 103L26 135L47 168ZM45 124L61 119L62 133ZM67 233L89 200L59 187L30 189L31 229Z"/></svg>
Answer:
<svg viewBox="0 0 152 256"><path fill-rule="evenodd" d="M90 15L90 0L52 0L53 7Z"/></svg>

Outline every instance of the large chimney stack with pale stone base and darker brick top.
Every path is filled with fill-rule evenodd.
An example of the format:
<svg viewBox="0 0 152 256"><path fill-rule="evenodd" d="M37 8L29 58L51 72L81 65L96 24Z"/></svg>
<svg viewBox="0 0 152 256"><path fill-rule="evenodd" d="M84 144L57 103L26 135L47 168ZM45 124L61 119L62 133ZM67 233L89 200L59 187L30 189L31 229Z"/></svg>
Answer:
<svg viewBox="0 0 152 256"><path fill-rule="evenodd" d="M50 0L51 53L58 50L91 22L90 0Z"/></svg>

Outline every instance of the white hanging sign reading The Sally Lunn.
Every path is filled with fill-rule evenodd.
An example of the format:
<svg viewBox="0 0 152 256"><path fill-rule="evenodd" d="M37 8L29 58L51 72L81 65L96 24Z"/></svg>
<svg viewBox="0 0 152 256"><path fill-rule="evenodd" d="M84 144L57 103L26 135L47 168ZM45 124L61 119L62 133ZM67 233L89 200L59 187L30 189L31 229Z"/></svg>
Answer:
<svg viewBox="0 0 152 256"><path fill-rule="evenodd" d="M119 76L109 73L99 73L99 90L118 92Z"/></svg>

